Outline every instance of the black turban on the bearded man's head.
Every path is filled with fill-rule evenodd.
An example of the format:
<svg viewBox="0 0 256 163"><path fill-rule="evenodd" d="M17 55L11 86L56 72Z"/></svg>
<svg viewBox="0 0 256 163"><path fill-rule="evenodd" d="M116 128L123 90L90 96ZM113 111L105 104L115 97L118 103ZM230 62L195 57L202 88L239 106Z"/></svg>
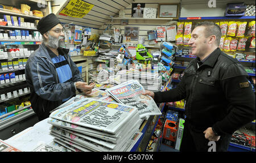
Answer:
<svg viewBox="0 0 256 163"><path fill-rule="evenodd" d="M57 24L60 24L60 20L52 13L40 19L36 28L38 28L41 35L44 35L44 33L55 27Z"/></svg>

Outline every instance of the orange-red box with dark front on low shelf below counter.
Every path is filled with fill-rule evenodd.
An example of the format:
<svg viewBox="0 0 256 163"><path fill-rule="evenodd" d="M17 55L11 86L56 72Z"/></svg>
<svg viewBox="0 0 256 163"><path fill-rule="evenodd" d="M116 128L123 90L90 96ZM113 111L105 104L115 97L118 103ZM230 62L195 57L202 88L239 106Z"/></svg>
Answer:
<svg viewBox="0 0 256 163"><path fill-rule="evenodd" d="M177 122L166 119L166 123L164 123L163 138L175 142L176 137L177 137Z"/></svg>

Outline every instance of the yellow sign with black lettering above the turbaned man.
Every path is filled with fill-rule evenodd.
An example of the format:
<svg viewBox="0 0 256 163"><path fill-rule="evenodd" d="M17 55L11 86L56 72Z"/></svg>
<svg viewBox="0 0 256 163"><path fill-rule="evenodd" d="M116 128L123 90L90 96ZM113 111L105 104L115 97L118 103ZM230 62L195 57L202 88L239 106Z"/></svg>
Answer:
<svg viewBox="0 0 256 163"><path fill-rule="evenodd" d="M68 5L60 11L60 15L83 18L93 6L94 5L81 0L71 0L68 2Z"/></svg>

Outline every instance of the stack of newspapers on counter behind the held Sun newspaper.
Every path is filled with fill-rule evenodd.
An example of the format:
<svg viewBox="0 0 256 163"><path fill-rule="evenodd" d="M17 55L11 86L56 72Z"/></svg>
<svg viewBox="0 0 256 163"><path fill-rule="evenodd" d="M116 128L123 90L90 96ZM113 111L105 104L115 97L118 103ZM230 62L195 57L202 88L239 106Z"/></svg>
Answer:
<svg viewBox="0 0 256 163"><path fill-rule="evenodd" d="M151 72L143 72L130 68L129 70L121 70L117 72L120 75L121 83L131 79L138 80L144 89L152 92L159 91L162 85L162 76Z"/></svg>

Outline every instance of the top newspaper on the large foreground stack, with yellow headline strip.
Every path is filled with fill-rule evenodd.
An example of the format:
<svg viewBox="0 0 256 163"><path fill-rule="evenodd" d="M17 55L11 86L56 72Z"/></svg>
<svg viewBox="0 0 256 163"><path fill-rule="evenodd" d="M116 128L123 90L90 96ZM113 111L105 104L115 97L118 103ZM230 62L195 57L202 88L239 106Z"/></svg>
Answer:
<svg viewBox="0 0 256 163"><path fill-rule="evenodd" d="M138 116L137 108L93 98L83 98L49 115L50 118L111 134L116 134L134 116Z"/></svg>

